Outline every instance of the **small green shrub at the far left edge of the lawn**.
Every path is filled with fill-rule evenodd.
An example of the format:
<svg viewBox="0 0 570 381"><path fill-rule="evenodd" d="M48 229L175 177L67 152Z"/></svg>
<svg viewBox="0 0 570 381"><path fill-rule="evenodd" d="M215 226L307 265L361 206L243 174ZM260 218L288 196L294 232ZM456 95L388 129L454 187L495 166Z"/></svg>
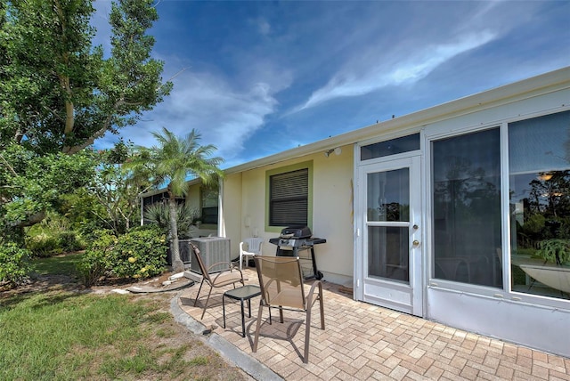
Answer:
<svg viewBox="0 0 570 381"><path fill-rule="evenodd" d="M15 286L25 280L30 271L29 254L14 242L0 239L0 282Z"/></svg>

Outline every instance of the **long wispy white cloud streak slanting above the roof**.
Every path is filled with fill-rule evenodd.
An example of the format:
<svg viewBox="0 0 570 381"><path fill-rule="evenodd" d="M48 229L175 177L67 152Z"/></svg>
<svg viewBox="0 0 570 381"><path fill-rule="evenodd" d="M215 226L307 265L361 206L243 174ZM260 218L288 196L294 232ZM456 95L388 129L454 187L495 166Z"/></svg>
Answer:
<svg viewBox="0 0 570 381"><path fill-rule="evenodd" d="M358 65L347 65L329 81L327 85L314 91L304 105L297 110L309 109L322 102L346 96L357 96L371 93L387 85L403 85L419 81L445 61L451 60L460 53L465 53L478 46L492 41L495 35L490 31L481 31L460 36L451 42L439 45L428 45L416 50L416 53L404 55L401 60L393 59L389 63L381 63L381 55L367 54L368 60ZM397 53L397 52L394 52Z"/></svg>

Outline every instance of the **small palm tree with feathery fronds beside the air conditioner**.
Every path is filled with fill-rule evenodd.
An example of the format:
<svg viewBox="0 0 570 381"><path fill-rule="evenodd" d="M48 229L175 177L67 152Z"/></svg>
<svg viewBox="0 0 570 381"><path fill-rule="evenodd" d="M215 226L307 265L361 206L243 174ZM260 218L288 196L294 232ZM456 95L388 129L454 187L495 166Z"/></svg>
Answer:
<svg viewBox="0 0 570 381"><path fill-rule="evenodd" d="M134 175L149 170L151 181L156 186L167 184L168 208L170 209L170 234L172 236L172 266L175 272L184 271L178 247L178 225L176 223L176 197L186 195L189 190L187 178L199 178L204 185L216 183L223 171L218 167L223 158L210 158L216 146L199 145L200 134L192 129L183 139L162 127L162 133L152 133L159 143L150 149L139 147L139 155L127 167Z"/></svg>

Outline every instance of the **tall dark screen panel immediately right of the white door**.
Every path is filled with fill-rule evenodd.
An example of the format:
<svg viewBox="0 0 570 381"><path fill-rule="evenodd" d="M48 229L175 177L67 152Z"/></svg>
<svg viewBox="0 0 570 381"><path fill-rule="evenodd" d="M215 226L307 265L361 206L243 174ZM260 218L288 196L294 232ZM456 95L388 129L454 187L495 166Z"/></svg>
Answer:
<svg viewBox="0 0 570 381"><path fill-rule="evenodd" d="M501 134L432 143L435 277L502 288Z"/></svg>

